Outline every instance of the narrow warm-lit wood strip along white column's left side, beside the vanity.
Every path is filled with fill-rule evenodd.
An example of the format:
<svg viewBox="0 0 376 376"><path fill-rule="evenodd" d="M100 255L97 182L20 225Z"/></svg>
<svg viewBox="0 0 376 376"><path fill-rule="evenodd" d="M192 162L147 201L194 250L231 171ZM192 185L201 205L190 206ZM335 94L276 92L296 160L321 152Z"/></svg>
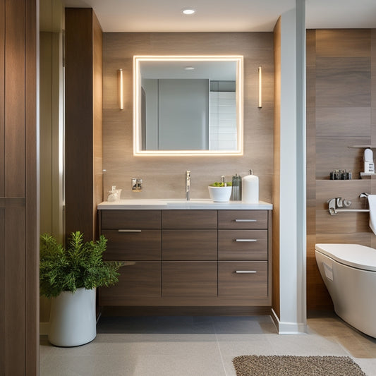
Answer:
<svg viewBox="0 0 376 376"><path fill-rule="evenodd" d="M274 156L273 156L273 215L272 215L272 308L280 317L279 300L279 195L281 154L281 18L273 30L274 38Z"/></svg>

